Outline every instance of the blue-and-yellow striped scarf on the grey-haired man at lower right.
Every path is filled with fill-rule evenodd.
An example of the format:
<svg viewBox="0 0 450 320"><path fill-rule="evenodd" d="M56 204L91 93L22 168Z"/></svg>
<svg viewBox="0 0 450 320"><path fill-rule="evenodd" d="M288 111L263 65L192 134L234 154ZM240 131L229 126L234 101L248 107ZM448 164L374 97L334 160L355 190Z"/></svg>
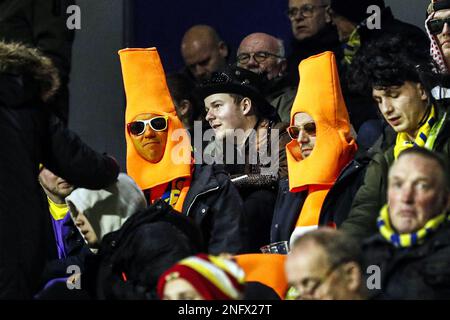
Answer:
<svg viewBox="0 0 450 320"><path fill-rule="evenodd" d="M447 212L442 213L433 219L428 220L425 226L413 233L399 234L392 229L388 206L385 205L377 220L378 230L387 241L397 248L408 248L415 244L422 244L424 240L434 231L436 231L446 220L449 220Z"/></svg>

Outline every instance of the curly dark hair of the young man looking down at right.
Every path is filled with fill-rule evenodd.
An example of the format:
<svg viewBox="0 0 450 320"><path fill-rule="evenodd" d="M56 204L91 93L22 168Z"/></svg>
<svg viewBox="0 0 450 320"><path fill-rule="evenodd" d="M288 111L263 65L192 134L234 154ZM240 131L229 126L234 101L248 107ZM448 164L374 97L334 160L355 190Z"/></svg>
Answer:
<svg viewBox="0 0 450 320"><path fill-rule="evenodd" d="M432 74L429 52L400 34L384 34L362 48L347 73L352 91L371 94L373 88L400 86L405 81L423 83Z"/></svg>

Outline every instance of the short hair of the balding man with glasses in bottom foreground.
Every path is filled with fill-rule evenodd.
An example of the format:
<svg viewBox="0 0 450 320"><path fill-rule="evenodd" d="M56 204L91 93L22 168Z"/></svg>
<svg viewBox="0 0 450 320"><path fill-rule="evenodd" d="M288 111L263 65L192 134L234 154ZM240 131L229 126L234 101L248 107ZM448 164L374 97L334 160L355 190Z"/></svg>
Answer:
<svg viewBox="0 0 450 320"><path fill-rule="evenodd" d="M336 267L346 262L362 263L361 247L358 242L339 230L328 227L305 233L294 241L293 248L308 242L322 247L327 255L331 267Z"/></svg>

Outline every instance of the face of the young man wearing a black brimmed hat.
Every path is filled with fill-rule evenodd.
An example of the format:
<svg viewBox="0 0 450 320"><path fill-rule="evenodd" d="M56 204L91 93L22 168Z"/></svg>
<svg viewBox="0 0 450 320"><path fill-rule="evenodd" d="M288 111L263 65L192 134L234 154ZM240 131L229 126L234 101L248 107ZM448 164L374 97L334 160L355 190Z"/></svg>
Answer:
<svg viewBox="0 0 450 320"><path fill-rule="evenodd" d="M213 128L216 139L223 139L235 129L244 128L242 108L227 93L216 93L205 98L206 121Z"/></svg>

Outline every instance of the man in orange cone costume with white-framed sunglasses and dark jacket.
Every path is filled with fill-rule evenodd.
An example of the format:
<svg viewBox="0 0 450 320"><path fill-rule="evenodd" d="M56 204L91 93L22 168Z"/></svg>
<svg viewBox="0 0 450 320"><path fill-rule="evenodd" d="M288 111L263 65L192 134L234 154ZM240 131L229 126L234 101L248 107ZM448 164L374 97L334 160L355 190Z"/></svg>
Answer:
<svg viewBox="0 0 450 320"><path fill-rule="evenodd" d="M193 164L156 48L119 52L127 96L127 171L149 204L162 199L201 228L208 251L246 248L243 205L226 172Z"/></svg>

